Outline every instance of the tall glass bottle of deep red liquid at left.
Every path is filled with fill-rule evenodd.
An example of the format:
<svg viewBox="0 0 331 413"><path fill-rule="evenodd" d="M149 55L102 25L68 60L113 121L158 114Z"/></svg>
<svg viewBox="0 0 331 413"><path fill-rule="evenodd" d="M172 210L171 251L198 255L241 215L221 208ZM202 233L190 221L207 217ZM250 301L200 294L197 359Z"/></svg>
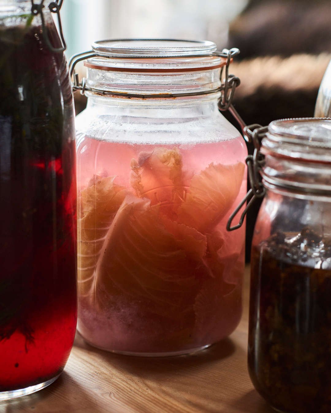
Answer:
<svg viewBox="0 0 331 413"><path fill-rule="evenodd" d="M72 87L48 4L0 9L0 400L56 380L77 320Z"/></svg>

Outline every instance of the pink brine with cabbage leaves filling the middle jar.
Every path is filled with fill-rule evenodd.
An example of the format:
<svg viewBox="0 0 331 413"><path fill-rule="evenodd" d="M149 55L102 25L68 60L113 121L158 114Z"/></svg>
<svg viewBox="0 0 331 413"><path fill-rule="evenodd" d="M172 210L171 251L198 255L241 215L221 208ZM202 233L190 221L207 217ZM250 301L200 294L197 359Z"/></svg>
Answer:
<svg viewBox="0 0 331 413"><path fill-rule="evenodd" d="M239 323L242 138L187 145L79 141L78 330L131 354L180 354Z"/></svg>

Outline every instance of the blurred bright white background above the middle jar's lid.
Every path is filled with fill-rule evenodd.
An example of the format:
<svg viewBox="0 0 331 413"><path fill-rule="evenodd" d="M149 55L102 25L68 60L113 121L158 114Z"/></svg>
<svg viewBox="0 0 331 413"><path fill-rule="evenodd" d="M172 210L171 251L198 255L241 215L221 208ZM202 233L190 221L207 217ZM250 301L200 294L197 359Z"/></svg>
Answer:
<svg viewBox="0 0 331 413"><path fill-rule="evenodd" d="M222 49L228 24L247 0L65 0L67 58L107 38L212 40Z"/></svg>

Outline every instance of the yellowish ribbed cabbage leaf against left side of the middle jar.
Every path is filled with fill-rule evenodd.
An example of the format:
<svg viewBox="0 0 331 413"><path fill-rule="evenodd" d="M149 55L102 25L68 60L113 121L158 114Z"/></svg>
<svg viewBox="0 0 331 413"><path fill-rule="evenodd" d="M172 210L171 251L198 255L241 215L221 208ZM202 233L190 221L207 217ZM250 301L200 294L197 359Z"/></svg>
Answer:
<svg viewBox="0 0 331 413"><path fill-rule="evenodd" d="M130 193L113 183L115 176L94 179L81 191L78 211L78 280L82 296L93 285L93 274L110 223Z"/></svg>

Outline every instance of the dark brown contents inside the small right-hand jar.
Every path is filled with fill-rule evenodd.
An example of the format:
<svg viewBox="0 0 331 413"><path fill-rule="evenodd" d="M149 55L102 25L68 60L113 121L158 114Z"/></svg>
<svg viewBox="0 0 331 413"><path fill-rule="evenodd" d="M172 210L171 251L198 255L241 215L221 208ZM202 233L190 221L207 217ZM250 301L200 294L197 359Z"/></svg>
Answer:
<svg viewBox="0 0 331 413"><path fill-rule="evenodd" d="M330 257L309 227L252 249L249 374L281 411L331 412Z"/></svg>

